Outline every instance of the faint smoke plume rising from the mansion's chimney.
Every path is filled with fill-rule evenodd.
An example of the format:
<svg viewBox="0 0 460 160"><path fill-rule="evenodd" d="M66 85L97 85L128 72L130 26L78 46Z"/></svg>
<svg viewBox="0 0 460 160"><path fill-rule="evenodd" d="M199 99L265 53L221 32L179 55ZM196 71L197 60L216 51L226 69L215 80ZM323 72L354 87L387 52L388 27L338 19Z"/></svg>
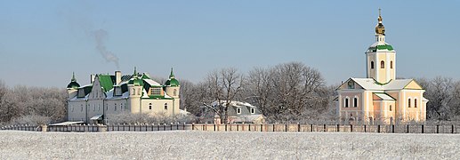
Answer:
<svg viewBox="0 0 460 160"><path fill-rule="evenodd" d="M104 29L97 29L92 32L94 39L96 40L96 50L101 53L102 58L104 58L107 62L115 63L117 69L120 69L120 64L118 62L118 57L113 52L107 50L105 46L105 39L109 36Z"/></svg>

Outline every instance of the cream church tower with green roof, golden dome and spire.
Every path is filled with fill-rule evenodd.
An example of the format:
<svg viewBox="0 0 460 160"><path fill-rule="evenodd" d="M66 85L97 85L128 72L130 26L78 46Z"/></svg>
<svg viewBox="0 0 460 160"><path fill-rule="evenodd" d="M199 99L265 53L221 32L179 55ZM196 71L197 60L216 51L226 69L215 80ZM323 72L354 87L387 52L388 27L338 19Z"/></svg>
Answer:
<svg viewBox="0 0 460 160"><path fill-rule="evenodd" d="M385 42L385 28L380 9L377 20L375 43L369 46L366 52L366 75L380 84L386 84L396 78L396 51Z"/></svg>

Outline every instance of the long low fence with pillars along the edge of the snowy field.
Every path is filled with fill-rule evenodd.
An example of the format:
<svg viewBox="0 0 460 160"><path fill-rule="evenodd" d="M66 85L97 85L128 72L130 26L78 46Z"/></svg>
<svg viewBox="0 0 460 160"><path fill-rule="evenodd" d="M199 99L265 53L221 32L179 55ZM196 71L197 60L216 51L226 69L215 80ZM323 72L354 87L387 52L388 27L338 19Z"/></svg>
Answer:
<svg viewBox="0 0 460 160"><path fill-rule="evenodd" d="M204 132L383 132L458 133L458 124L109 124L4 126L1 130L33 132L157 132L195 130Z"/></svg>

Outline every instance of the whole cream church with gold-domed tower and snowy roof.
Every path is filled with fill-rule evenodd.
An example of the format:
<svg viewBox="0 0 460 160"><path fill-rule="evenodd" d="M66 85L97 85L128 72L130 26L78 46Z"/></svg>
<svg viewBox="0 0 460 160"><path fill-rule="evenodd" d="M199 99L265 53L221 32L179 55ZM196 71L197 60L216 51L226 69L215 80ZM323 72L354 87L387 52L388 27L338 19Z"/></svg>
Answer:
<svg viewBox="0 0 460 160"><path fill-rule="evenodd" d="M426 119L424 89L414 79L396 78L396 51L385 42L379 11L375 43L366 52L366 78L350 78L337 89L343 121L393 124Z"/></svg>

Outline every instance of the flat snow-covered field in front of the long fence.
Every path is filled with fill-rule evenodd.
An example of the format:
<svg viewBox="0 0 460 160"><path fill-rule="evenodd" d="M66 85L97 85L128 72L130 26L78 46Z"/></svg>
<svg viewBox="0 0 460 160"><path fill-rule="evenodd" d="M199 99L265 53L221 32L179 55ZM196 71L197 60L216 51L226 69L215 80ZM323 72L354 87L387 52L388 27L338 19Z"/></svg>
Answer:
<svg viewBox="0 0 460 160"><path fill-rule="evenodd" d="M2 159L457 159L459 134L0 132Z"/></svg>

